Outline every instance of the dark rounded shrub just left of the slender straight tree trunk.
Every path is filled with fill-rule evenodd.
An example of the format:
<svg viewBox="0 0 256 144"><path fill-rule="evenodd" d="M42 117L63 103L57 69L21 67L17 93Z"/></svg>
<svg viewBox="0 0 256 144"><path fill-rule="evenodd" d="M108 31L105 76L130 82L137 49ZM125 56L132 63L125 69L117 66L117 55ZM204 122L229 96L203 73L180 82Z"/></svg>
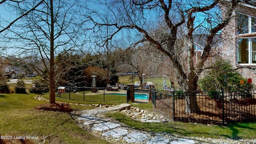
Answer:
<svg viewBox="0 0 256 144"><path fill-rule="evenodd" d="M49 92L49 83L44 79L36 79L32 82L32 88L30 88L29 92L34 94L41 94L43 92Z"/></svg>

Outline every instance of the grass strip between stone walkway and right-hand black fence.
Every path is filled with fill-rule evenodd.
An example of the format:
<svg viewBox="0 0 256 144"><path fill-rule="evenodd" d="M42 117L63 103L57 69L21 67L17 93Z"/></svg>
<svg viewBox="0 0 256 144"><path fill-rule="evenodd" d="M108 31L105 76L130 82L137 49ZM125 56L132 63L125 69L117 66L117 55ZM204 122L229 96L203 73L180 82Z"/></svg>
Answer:
<svg viewBox="0 0 256 144"><path fill-rule="evenodd" d="M166 132L180 136L205 138L256 138L256 123L235 123L228 126L205 125L183 122L146 123L138 122L121 113L108 113L107 116L138 130Z"/></svg>

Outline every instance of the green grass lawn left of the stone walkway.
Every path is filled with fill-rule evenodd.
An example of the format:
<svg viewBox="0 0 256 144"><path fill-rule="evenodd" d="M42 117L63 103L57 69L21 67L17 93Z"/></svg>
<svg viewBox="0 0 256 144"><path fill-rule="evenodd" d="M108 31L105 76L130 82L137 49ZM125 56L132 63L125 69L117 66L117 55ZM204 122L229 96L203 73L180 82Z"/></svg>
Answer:
<svg viewBox="0 0 256 144"><path fill-rule="evenodd" d="M44 102L35 94L0 94L1 136L36 136L35 143L48 137L51 144L106 144L79 128L67 112L32 110ZM85 106L72 106L83 110Z"/></svg>

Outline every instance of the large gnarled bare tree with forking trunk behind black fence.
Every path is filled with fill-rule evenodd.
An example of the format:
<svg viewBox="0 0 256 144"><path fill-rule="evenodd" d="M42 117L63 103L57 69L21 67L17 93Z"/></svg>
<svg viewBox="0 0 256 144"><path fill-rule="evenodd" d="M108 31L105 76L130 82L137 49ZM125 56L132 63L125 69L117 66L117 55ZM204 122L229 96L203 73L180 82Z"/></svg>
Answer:
<svg viewBox="0 0 256 144"><path fill-rule="evenodd" d="M99 21L95 15L90 15L95 28L104 26L114 27L108 40L112 40L118 32L131 30L140 34L134 40L134 44L150 42L158 50L166 54L176 69L178 84L183 90L196 91L199 75L204 70L204 65L210 56L213 38L224 28L240 0L114 0L101 1L112 12L112 23ZM225 6L225 11L222 11ZM98 16L99 14L97 14ZM164 27L165 30L160 30ZM186 46L178 45L180 30L185 32ZM203 29L207 34L202 56L195 64L193 34L196 30ZM157 31L158 35L151 32ZM142 38L142 39L140 39ZM186 59L179 52L184 52ZM196 96L186 97L186 112L199 112Z"/></svg>

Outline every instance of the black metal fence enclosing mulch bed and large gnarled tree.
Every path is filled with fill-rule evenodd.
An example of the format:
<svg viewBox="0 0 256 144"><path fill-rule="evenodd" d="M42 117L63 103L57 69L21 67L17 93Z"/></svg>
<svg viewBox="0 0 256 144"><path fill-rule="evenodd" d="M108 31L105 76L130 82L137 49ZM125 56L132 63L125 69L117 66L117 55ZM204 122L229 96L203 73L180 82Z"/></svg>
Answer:
<svg viewBox="0 0 256 144"><path fill-rule="evenodd" d="M256 90L183 92L152 89L152 103L175 121L228 124L255 122Z"/></svg>

